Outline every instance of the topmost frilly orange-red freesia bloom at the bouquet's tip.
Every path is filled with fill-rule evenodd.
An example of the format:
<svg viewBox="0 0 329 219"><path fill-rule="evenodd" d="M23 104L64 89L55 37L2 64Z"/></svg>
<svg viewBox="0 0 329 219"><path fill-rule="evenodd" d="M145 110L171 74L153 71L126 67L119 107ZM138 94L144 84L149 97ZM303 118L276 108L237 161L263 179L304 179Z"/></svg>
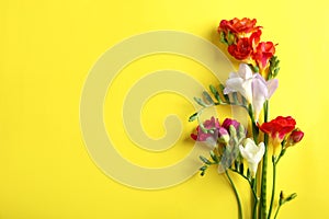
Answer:
<svg viewBox="0 0 329 219"><path fill-rule="evenodd" d="M218 32L241 34L241 33L251 33L261 28L261 26L256 26L257 20L256 19L247 19L243 18L239 20L237 18L232 20L222 20L218 26Z"/></svg>

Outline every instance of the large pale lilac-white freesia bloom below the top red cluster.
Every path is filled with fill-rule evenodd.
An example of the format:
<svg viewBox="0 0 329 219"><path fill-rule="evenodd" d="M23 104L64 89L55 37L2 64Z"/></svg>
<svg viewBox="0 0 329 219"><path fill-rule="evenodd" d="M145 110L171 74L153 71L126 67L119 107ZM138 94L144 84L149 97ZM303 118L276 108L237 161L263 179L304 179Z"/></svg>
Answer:
<svg viewBox="0 0 329 219"><path fill-rule="evenodd" d="M229 74L224 94L239 92L252 105L254 118L258 120L265 100L272 96L277 84L277 79L265 81L259 73L253 73L248 65L240 64L238 72Z"/></svg>

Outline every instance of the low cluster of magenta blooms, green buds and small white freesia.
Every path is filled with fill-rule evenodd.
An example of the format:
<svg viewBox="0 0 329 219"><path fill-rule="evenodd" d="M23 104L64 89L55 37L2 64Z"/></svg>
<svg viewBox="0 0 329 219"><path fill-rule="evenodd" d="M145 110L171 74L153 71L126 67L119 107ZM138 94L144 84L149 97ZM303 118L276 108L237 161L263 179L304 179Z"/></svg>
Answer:
<svg viewBox="0 0 329 219"><path fill-rule="evenodd" d="M200 169L201 175L212 164L218 164L218 173L224 173L231 168L243 174L245 159L248 162L248 177L256 177L258 164L264 154L264 143L260 142L257 146L252 139L246 138L247 131L241 124L226 118L220 125L218 119L212 117L197 126L196 131L197 134L192 134L191 137L212 147L213 161L201 157L204 162L204 166Z"/></svg>

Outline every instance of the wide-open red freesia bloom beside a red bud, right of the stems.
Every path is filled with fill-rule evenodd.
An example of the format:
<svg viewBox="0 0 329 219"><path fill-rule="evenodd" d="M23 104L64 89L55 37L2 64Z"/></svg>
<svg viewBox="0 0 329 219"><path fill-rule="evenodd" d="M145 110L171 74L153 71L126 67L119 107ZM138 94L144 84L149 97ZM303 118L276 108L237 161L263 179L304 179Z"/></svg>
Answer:
<svg viewBox="0 0 329 219"><path fill-rule="evenodd" d="M287 116L277 116L273 120L269 123L263 123L259 128L271 136L273 139L277 139L280 141L283 140L283 138L295 129L296 122L293 117Z"/></svg>

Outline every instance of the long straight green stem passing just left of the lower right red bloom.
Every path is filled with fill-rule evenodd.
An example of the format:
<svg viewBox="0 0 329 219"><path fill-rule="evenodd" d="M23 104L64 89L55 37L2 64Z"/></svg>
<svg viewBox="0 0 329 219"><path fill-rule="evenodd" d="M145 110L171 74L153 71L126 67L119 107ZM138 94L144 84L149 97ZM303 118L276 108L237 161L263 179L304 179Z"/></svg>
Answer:
<svg viewBox="0 0 329 219"><path fill-rule="evenodd" d="M264 103L264 123L269 120L269 101ZM266 181L268 181L268 145L269 136L264 134L264 146L265 152L263 155L262 162L262 172L261 172L261 206L260 206L260 216L261 218L266 218Z"/></svg>

